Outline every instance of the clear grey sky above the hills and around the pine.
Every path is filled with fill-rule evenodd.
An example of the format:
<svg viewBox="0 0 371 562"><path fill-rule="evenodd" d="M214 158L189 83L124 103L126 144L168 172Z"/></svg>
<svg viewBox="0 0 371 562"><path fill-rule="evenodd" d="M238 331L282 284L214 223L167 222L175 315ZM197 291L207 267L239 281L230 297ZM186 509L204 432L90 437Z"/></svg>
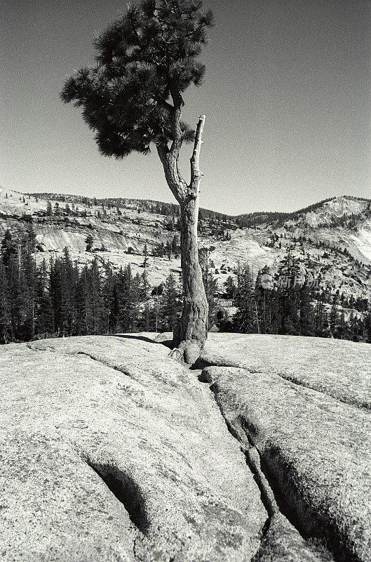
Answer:
<svg viewBox="0 0 371 562"><path fill-rule="evenodd" d="M94 34L116 0L1 0L3 190L173 202L153 150L103 157L65 77L94 63ZM215 15L201 88L184 119L206 115L201 207L292 211L337 195L371 197L371 1L204 0ZM183 148L189 177L191 147Z"/></svg>

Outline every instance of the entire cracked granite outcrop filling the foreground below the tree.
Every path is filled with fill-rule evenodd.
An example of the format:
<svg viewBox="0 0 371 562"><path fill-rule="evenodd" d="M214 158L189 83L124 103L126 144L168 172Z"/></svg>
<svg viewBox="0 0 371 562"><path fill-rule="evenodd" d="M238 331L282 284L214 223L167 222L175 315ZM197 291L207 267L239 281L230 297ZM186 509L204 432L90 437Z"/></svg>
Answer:
<svg viewBox="0 0 371 562"><path fill-rule="evenodd" d="M155 337L1 347L2 559L369 562L370 345Z"/></svg>

